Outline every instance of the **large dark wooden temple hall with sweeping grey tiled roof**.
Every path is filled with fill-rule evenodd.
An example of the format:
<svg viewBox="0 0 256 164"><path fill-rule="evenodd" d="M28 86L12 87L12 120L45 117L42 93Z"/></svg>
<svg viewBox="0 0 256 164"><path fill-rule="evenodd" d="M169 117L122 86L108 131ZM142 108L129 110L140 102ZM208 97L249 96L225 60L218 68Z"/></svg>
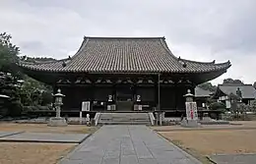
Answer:
<svg viewBox="0 0 256 164"><path fill-rule="evenodd" d="M184 94L231 66L175 57L164 37L84 37L73 57L22 63L35 80L61 89L63 111L185 111Z"/></svg>

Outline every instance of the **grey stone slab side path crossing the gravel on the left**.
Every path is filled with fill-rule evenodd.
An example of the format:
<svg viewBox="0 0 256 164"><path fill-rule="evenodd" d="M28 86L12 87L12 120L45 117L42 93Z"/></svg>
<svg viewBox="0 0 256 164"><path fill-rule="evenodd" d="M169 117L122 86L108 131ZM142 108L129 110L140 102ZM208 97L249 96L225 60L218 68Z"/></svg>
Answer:
<svg viewBox="0 0 256 164"><path fill-rule="evenodd" d="M88 134L21 133L0 137L0 141L81 143L88 136Z"/></svg>

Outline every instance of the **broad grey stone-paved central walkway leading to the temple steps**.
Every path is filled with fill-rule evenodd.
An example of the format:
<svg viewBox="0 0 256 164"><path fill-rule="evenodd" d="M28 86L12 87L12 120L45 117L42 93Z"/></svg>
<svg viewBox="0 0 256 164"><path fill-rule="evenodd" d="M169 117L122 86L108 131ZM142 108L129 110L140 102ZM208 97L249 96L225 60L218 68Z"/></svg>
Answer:
<svg viewBox="0 0 256 164"><path fill-rule="evenodd" d="M103 126L60 164L200 164L146 126Z"/></svg>

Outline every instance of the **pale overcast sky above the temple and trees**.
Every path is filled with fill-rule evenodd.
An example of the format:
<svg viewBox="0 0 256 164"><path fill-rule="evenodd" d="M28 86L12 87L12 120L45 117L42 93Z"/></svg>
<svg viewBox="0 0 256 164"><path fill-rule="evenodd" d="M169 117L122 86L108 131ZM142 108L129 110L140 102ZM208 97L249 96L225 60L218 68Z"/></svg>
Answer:
<svg viewBox="0 0 256 164"><path fill-rule="evenodd" d="M255 0L0 0L0 32L23 55L66 58L87 36L165 36L175 56L232 66L256 81Z"/></svg>

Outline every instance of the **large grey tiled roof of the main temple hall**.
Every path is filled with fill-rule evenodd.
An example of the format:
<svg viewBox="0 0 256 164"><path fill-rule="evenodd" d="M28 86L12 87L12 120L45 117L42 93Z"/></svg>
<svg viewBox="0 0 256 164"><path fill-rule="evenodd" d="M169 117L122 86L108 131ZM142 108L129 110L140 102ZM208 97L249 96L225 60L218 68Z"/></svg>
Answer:
<svg viewBox="0 0 256 164"><path fill-rule="evenodd" d="M175 57L164 37L85 37L70 59L21 67L35 71L88 73L204 73L223 71L221 64Z"/></svg>

